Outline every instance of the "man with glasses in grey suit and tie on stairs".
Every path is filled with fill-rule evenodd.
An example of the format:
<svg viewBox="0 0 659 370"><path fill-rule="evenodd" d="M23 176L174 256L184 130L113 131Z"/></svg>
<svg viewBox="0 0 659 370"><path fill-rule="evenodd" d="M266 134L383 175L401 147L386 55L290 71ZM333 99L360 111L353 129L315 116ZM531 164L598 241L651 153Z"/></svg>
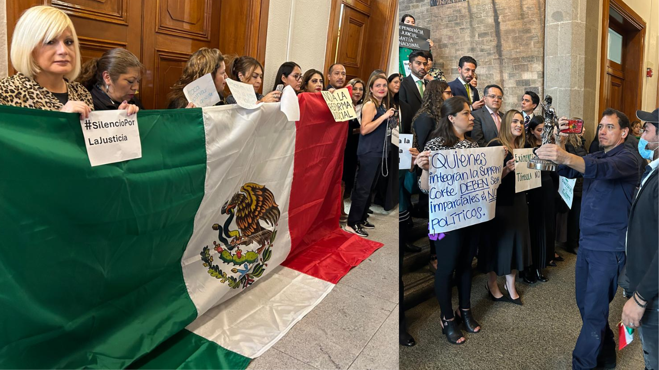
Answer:
<svg viewBox="0 0 659 370"><path fill-rule="evenodd" d="M499 136L501 128L501 119L503 114L499 111L503 101L503 89L497 85L485 86L485 107L473 111L474 129L471 131L471 138L474 139L478 146L485 147L490 140Z"/></svg>

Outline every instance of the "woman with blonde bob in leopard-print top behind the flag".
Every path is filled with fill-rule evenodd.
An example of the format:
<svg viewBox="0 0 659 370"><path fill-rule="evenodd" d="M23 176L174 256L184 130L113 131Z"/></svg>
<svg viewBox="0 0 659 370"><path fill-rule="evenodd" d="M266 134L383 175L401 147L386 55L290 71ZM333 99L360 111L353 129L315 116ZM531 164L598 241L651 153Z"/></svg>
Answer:
<svg viewBox="0 0 659 370"><path fill-rule="evenodd" d="M0 104L88 117L94 103L75 82L80 45L67 14L43 5L25 11L14 28L10 57L18 72L0 80Z"/></svg>

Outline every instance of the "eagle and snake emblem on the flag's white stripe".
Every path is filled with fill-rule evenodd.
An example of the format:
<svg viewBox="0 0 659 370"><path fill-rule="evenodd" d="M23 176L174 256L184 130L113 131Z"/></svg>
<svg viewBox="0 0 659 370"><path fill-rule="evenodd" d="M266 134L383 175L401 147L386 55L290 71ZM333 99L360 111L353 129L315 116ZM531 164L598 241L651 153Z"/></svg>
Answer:
<svg viewBox="0 0 659 370"><path fill-rule="evenodd" d="M222 263L230 265L229 275L219 265L214 265L211 249L205 246L200 255L208 273L231 288L246 288L263 275L272 257L272 245L277 236L277 221L281 212L275 196L263 185L248 182L231 196L220 209L226 215L223 225L213 224L217 240L212 249L217 251ZM236 230L231 230L235 221ZM243 251L243 249L245 251Z"/></svg>

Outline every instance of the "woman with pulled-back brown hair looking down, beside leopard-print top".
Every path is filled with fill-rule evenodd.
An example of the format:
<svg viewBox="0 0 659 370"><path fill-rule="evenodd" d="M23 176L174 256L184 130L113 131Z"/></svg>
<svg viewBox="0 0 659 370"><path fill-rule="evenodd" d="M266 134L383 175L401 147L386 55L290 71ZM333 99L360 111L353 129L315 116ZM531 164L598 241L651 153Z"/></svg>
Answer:
<svg viewBox="0 0 659 370"><path fill-rule="evenodd" d="M91 94L94 110L126 109L128 115L142 107L135 94L140 89L144 65L126 49L110 49L82 65L78 82Z"/></svg>

